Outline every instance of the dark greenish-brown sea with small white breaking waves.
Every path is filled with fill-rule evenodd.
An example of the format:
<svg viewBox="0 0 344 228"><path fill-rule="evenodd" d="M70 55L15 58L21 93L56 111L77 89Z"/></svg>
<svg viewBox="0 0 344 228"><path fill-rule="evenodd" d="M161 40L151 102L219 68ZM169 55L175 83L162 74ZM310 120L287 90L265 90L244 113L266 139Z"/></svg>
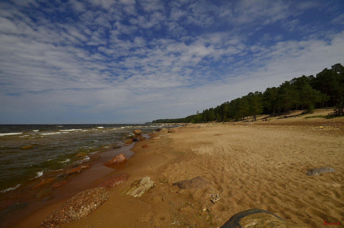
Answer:
<svg viewBox="0 0 344 228"><path fill-rule="evenodd" d="M177 125L178 126L178 125ZM43 174L84 163L89 156L121 144L134 129L151 133L164 124L0 125L0 194ZM34 148L22 149L32 145ZM75 157L80 152L87 156Z"/></svg>

